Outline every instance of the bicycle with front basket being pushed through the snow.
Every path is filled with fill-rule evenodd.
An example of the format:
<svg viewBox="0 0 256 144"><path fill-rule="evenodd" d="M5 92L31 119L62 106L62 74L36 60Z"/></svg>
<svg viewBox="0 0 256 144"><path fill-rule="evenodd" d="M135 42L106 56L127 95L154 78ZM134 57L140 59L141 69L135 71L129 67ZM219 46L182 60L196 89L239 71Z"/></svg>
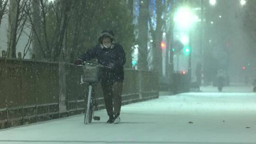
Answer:
<svg viewBox="0 0 256 144"><path fill-rule="evenodd" d="M97 85L100 81L99 79L99 71L101 69L100 64L95 63L84 63L82 65L77 65L78 67L82 67L83 74L81 75L81 82L80 84L87 84L88 85L88 99L87 105L85 105L85 112L84 112L84 124L87 125L91 123L92 118L94 120L100 120L101 117L94 116L95 108L98 108L98 104L96 102L96 98L93 91L93 85ZM86 95L85 95L86 99Z"/></svg>

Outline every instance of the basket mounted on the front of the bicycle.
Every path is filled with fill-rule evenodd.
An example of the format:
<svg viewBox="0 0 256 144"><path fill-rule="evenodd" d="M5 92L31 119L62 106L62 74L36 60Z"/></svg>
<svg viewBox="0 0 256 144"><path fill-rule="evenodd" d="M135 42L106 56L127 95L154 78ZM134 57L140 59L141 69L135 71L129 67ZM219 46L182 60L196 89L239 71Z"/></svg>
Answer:
<svg viewBox="0 0 256 144"><path fill-rule="evenodd" d="M99 72L100 72L99 66L95 65L85 65L82 67L83 74L82 74L82 81L83 82L91 82L91 83L98 83L100 81L99 78Z"/></svg>

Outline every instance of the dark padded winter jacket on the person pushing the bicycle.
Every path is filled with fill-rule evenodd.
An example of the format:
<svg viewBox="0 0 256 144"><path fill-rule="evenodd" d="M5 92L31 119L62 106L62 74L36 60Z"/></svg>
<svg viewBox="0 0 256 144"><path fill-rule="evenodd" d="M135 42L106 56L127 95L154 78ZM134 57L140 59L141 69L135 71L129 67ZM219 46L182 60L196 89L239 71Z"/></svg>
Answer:
<svg viewBox="0 0 256 144"><path fill-rule="evenodd" d="M100 72L101 82L113 82L124 80L124 67L126 62L125 52L121 45L112 44L110 48L103 47L102 44L96 45L80 56L83 61L90 61L93 58L98 59L98 63L109 66L113 63L114 67L102 68Z"/></svg>

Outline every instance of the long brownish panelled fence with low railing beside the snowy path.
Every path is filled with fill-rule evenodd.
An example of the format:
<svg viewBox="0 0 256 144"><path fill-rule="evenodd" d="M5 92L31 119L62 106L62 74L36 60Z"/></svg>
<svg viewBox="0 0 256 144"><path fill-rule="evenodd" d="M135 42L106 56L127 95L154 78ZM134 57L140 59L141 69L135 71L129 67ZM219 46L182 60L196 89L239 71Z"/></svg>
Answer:
<svg viewBox="0 0 256 144"><path fill-rule="evenodd" d="M84 112L81 71L69 63L0 57L0 126L24 125ZM125 69L122 104L158 98L158 74ZM101 86L94 87L99 109Z"/></svg>

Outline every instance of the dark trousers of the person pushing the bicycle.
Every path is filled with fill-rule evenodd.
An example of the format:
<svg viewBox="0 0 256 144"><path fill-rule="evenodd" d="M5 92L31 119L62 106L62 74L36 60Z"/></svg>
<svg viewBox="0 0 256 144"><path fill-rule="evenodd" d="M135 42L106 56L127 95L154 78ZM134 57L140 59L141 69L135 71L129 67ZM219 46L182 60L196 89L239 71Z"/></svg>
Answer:
<svg viewBox="0 0 256 144"><path fill-rule="evenodd" d="M119 115L122 104L123 81L114 81L113 83L102 82L101 87L108 115Z"/></svg>

